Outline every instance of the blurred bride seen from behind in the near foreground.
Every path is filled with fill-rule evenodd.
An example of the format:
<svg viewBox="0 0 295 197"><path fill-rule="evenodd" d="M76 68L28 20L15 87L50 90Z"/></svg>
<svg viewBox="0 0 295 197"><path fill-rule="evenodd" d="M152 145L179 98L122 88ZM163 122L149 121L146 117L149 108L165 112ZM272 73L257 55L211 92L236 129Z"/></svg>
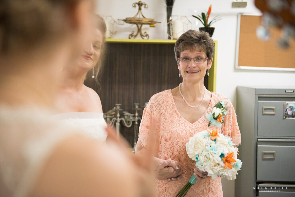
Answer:
<svg viewBox="0 0 295 197"><path fill-rule="evenodd" d="M94 7L0 2L0 196L150 196L145 157L49 118L61 70L93 30Z"/></svg>

